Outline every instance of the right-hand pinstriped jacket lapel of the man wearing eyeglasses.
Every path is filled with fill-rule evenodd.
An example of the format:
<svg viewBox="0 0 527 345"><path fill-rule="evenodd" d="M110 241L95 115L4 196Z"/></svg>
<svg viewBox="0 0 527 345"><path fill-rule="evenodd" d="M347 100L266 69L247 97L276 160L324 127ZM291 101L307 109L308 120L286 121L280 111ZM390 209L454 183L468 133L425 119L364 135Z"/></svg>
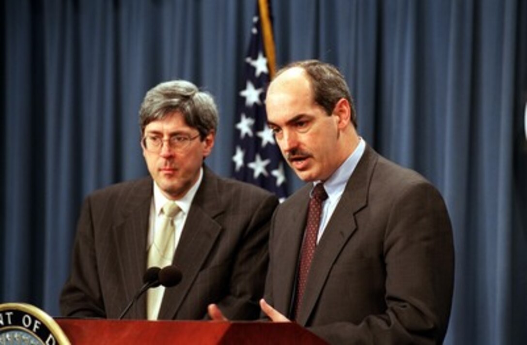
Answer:
<svg viewBox="0 0 527 345"><path fill-rule="evenodd" d="M176 287L165 290L159 319L173 319L181 308L222 230L214 220L221 212L223 204L218 190L218 178L204 167L203 180L192 201L174 253L173 262L181 269L183 279Z"/></svg>

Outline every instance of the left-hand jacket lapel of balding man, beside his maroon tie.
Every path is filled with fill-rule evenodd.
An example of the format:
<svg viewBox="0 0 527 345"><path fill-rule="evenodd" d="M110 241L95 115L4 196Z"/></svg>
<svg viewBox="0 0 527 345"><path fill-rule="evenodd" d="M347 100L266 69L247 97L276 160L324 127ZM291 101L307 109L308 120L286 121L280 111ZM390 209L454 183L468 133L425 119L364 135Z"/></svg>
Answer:
<svg viewBox="0 0 527 345"><path fill-rule="evenodd" d="M274 243L271 244L276 245L276 251L280 253L279 262L273 263L274 307L288 316L295 293L296 269L306 226L309 191L312 186L311 183L307 184L295 194L293 199L288 200L291 204L290 208L286 207L288 214L282 216L284 220L281 224L276 225L278 230L275 231L280 231L280 234L274 236Z"/></svg>

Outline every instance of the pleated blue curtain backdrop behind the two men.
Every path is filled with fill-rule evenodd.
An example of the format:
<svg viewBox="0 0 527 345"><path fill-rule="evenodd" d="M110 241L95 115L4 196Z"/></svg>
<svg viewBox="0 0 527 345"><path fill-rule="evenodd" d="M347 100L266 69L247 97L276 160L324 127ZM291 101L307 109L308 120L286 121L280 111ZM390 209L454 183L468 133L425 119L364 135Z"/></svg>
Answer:
<svg viewBox="0 0 527 345"><path fill-rule="evenodd" d="M172 78L216 96L229 176L255 0L5 0L0 302L58 314L82 199L145 175L138 109ZM441 190L456 250L445 343L527 338L527 4L273 1L277 62L346 75L359 131ZM294 180L296 189L301 182Z"/></svg>

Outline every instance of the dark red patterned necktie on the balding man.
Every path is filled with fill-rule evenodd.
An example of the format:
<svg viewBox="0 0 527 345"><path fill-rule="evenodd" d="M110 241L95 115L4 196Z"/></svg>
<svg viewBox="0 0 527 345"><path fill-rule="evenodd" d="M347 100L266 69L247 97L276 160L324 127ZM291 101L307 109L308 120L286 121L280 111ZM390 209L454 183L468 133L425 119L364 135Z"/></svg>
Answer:
<svg viewBox="0 0 527 345"><path fill-rule="evenodd" d="M322 203L328 198L324 184L319 183L311 192L311 199L309 200L309 209L307 211L306 230L304 231L304 242L302 242L302 249L300 250L300 266L298 270L297 288L295 296L294 314L295 320L300 310L302 297L306 289L307 274L311 267L311 260L315 253L317 246L318 227L320 226L320 216L322 215Z"/></svg>

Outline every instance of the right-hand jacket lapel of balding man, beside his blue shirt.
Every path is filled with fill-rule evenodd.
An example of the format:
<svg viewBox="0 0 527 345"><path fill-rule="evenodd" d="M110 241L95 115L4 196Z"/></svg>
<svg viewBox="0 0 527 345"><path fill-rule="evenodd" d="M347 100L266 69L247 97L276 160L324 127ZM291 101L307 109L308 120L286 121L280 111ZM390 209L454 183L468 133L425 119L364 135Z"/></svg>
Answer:
<svg viewBox="0 0 527 345"><path fill-rule="evenodd" d="M331 268L333 268L346 243L357 230L355 214L367 205L369 184L377 159L378 155L375 151L366 146L366 150L352 176L350 176L344 193L317 245L309 269L302 308L297 317L297 322L301 326L306 326Z"/></svg>

